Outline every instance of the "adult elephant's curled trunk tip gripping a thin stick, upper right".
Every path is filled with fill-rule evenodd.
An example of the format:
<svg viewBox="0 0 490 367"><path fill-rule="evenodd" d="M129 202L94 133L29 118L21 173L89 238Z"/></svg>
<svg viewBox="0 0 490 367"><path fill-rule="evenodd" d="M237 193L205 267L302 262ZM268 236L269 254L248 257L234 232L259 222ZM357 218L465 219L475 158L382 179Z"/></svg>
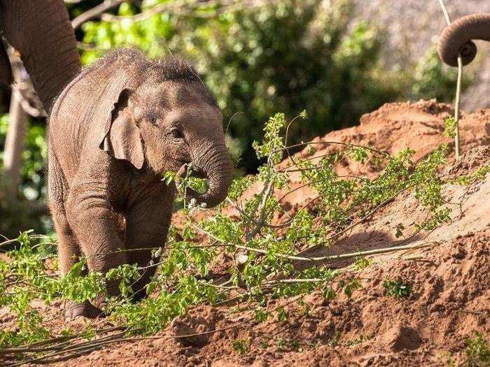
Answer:
<svg viewBox="0 0 490 367"><path fill-rule="evenodd" d="M477 55L471 40L490 41L490 13L466 15L449 24L440 35L439 57L450 66L458 66L458 55L468 65Z"/></svg>

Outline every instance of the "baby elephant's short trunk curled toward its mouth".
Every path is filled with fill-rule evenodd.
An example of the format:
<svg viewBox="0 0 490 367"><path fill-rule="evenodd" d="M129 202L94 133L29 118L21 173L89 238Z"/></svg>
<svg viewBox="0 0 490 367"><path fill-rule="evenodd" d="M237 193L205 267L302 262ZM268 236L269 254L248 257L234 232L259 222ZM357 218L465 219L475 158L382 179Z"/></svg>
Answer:
<svg viewBox="0 0 490 367"><path fill-rule="evenodd" d="M202 195L191 191L189 196L196 199L198 204L206 203L207 208L217 206L225 200L232 178L230 154L225 144L212 145L200 157L195 157L194 161L208 178L209 189Z"/></svg>

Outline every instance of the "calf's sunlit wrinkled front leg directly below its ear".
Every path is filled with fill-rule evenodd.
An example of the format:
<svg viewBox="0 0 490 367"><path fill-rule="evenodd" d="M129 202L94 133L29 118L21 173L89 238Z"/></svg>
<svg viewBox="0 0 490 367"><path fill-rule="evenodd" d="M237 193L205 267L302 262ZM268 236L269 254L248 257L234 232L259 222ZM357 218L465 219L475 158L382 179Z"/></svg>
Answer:
<svg viewBox="0 0 490 367"><path fill-rule="evenodd" d="M78 170L66 202L69 225L87 257L89 271L105 274L111 268L126 263L124 243L118 235L118 216L109 203L109 179L106 170L87 162ZM95 170L94 170L95 168ZM119 294L118 281L106 283L107 295ZM92 301L104 306L104 295Z"/></svg>

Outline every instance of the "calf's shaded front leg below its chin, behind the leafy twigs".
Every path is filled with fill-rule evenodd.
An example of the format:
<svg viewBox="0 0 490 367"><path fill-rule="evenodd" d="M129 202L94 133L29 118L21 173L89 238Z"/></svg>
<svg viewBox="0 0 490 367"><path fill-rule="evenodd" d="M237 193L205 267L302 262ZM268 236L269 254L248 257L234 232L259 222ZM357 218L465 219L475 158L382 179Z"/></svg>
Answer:
<svg viewBox="0 0 490 367"><path fill-rule="evenodd" d="M142 268L141 277L132 284L134 301L146 296L146 285L155 275L157 267L151 260L156 263L159 258L153 258L152 251L165 245L173 201L174 194L159 182L141 192L126 215L127 261Z"/></svg>

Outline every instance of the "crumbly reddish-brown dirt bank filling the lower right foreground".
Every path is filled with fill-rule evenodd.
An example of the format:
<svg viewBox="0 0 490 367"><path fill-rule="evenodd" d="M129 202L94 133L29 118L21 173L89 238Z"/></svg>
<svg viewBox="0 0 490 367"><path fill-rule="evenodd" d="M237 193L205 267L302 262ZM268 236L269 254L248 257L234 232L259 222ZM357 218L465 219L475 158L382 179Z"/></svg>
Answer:
<svg viewBox="0 0 490 367"><path fill-rule="evenodd" d="M376 259L374 266L358 273L363 288L352 298L339 294L327 303L317 291L304 298L311 306L309 315L296 305L286 306L288 322L274 319L227 335L228 343L233 337L251 340L253 352L239 357L228 344L231 355L221 351L217 365L274 361L279 366L318 366L329 361L332 366L367 366L410 361L412 366L440 366L451 358L461 360L465 337L473 330L490 332L489 239L488 232L459 238L418 251L423 256L419 260ZM383 280L397 278L409 282L412 296L384 296ZM217 327L223 325L226 322ZM215 339L211 343L221 341L227 347L223 336ZM210 344L200 355L209 356L215 348Z"/></svg>

